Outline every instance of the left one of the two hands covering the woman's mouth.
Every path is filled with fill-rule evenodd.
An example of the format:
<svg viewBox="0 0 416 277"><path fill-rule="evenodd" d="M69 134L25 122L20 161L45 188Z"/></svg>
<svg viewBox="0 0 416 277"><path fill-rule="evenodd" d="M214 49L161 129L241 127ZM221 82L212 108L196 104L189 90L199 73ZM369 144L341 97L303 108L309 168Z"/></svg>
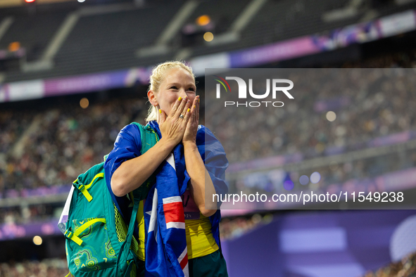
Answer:
<svg viewBox="0 0 416 277"><path fill-rule="evenodd" d="M189 106L191 105L189 98L179 98L168 116L163 110L159 110L160 122L159 128L162 134L162 139L165 140L174 148L184 136L184 131L187 128L189 116L191 115ZM179 118L184 115L184 118Z"/></svg>

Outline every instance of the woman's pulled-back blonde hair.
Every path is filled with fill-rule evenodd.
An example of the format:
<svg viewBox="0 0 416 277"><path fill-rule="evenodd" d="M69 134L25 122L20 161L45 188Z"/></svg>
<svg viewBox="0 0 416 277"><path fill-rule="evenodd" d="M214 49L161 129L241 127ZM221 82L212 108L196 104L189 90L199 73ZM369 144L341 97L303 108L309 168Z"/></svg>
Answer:
<svg viewBox="0 0 416 277"><path fill-rule="evenodd" d="M192 72L191 67L185 65L180 60L168 61L165 63L160 63L159 65L153 68L150 76L149 89L147 91L153 91L154 94L157 94L160 89L160 84L162 84L163 80L165 79L166 73L174 68L183 68L184 70L187 70L187 72L191 74L195 82L195 75L194 72ZM151 105L149 111L147 112L146 122L157 120L157 115L158 109L155 106Z"/></svg>

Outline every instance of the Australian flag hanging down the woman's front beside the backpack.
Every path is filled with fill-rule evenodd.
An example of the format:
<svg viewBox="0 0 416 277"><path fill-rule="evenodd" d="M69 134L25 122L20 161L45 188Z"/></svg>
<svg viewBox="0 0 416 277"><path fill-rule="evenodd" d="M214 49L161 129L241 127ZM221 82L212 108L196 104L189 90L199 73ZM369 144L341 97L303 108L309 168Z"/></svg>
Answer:
<svg viewBox="0 0 416 277"><path fill-rule="evenodd" d="M189 276L181 198L189 179L179 144L163 162L144 204L146 276Z"/></svg>

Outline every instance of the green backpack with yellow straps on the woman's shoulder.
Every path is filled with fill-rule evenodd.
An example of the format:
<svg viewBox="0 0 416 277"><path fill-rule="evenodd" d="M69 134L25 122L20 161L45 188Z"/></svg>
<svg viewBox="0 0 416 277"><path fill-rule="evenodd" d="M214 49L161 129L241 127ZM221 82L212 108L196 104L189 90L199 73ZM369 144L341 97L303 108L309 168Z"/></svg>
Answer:
<svg viewBox="0 0 416 277"><path fill-rule="evenodd" d="M141 153L158 141L158 136L148 125L136 122L141 135ZM104 157L104 161L108 155ZM73 182L68 221L63 225L68 269L76 277L123 276L137 274L139 245L133 236L134 222L139 202L146 198L154 176L149 177L134 193L134 205L127 226L115 207L104 178L104 162L80 174ZM71 191L71 192L72 192ZM61 223L60 223L61 224ZM62 224L60 226L61 230Z"/></svg>

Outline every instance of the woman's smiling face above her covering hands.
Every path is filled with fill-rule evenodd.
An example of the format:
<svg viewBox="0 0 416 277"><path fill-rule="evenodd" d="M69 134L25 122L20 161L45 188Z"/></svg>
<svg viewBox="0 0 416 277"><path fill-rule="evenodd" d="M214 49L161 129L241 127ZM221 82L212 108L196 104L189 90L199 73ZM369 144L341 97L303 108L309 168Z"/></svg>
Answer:
<svg viewBox="0 0 416 277"><path fill-rule="evenodd" d="M188 96L193 103L196 96L196 86L192 75L183 68L173 68L166 73L165 79L160 84L156 101L166 115L169 115L177 98Z"/></svg>

